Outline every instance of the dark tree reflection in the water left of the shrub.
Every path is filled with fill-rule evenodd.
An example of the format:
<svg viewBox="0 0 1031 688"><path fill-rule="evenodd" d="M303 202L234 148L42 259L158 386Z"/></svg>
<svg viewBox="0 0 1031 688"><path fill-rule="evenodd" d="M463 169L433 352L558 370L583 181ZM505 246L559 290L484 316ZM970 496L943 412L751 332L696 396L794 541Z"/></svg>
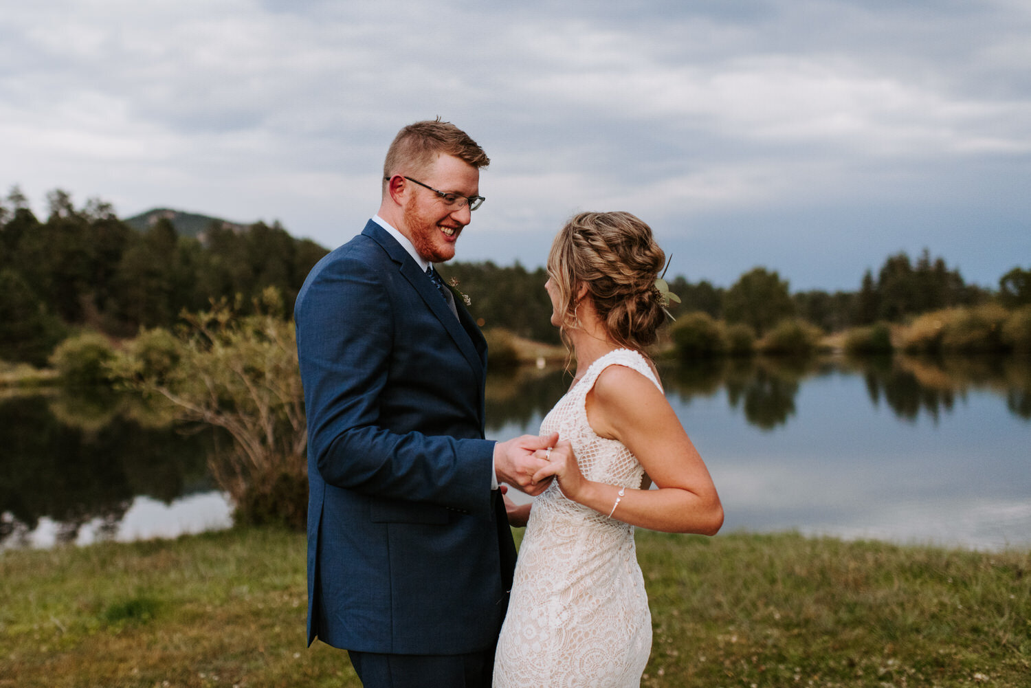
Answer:
<svg viewBox="0 0 1031 688"><path fill-rule="evenodd" d="M210 490L211 435L184 433L110 394L0 400L0 542L41 519L57 543L75 542L88 522L104 537L140 495L169 503Z"/></svg>

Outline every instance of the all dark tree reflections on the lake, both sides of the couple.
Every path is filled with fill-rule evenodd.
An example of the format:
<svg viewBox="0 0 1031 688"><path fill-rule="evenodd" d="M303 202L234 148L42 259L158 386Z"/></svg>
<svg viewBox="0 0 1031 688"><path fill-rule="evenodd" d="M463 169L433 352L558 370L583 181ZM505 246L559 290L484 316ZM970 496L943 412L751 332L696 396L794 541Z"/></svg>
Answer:
<svg viewBox="0 0 1031 688"><path fill-rule="evenodd" d="M1000 416L1031 421L1026 359L724 358L662 362L660 372L679 405L726 394L730 408L764 432L796 422L800 389L832 374L861 376L870 403L906 424L927 417L947 427L945 417L973 392L998 399ZM487 435L537 432L570 382L554 366L491 373ZM860 402L842 399L842 407ZM59 542L74 542L87 523L111 536L141 495L169 504L213 490L207 458L215 438L210 429L184 433L154 409L110 393L0 397L0 547L24 540L44 517L57 523Z"/></svg>

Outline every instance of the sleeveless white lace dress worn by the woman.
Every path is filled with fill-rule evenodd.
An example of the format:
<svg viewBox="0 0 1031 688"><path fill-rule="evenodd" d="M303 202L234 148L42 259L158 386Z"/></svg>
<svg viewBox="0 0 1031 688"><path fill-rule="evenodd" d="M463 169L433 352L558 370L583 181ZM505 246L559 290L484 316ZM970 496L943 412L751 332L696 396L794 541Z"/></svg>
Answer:
<svg viewBox="0 0 1031 688"><path fill-rule="evenodd" d="M559 400L540 431L572 443L588 480L638 488L644 469L634 455L599 437L587 420L587 393L609 365L632 368L662 389L640 354L610 352ZM498 640L495 688L637 688L651 650L633 526L567 499L553 482L530 511Z"/></svg>

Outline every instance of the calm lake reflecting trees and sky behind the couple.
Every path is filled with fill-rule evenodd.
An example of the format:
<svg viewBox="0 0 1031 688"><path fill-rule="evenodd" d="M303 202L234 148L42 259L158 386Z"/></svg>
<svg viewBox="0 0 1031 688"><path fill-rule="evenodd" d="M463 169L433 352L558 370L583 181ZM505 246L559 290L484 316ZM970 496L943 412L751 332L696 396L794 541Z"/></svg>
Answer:
<svg viewBox="0 0 1031 688"><path fill-rule="evenodd" d="M1031 362L759 359L666 364L662 378L723 532L1031 548ZM492 374L488 436L535 433L568 381ZM125 399L0 397L0 549L228 527L206 467L225 441Z"/></svg>

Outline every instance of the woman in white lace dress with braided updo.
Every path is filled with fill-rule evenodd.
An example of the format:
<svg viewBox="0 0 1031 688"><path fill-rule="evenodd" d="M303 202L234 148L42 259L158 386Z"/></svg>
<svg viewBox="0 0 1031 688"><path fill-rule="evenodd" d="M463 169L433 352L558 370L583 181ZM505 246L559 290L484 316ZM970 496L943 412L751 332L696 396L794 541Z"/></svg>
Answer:
<svg viewBox="0 0 1031 688"><path fill-rule="evenodd" d="M552 244L552 324L576 357L541 423L560 441L533 476L495 688L639 686L652 618L633 527L711 535L723 507L644 350L668 291L652 230L629 212L583 212ZM658 489L648 489L654 483ZM513 522L526 518L517 513Z"/></svg>

